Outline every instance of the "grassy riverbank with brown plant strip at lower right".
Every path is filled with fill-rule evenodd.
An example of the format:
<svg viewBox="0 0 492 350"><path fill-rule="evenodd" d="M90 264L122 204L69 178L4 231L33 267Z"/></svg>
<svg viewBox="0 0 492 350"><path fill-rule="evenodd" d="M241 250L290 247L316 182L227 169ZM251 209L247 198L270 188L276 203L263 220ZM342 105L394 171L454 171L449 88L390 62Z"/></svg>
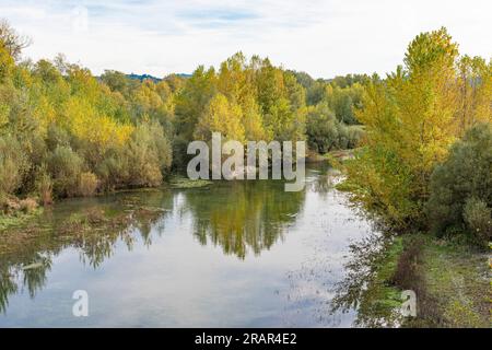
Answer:
<svg viewBox="0 0 492 350"><path fill-rule="evenodd" d="M457 240L403 234L383 248L383 258L361 301L366 324L395 325L403 290L417 294L417 317L401 327L490 327L490 266L487 252ZM365 317L364 317L365 316ZM382 322L380 319L385 319Z"/></svg>

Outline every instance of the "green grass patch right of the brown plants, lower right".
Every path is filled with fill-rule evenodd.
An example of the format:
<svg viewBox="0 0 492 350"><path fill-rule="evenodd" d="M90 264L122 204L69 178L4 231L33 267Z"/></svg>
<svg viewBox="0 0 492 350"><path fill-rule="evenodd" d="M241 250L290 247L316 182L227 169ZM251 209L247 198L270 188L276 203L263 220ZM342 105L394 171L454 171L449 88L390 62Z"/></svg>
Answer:
<svg viewBox="0 0 492 350"><path fill-rule="evenodd" d="M431 326L490 327L491 280L487 252L457 238L426 237L422 273L438 319Z"/></svg>

